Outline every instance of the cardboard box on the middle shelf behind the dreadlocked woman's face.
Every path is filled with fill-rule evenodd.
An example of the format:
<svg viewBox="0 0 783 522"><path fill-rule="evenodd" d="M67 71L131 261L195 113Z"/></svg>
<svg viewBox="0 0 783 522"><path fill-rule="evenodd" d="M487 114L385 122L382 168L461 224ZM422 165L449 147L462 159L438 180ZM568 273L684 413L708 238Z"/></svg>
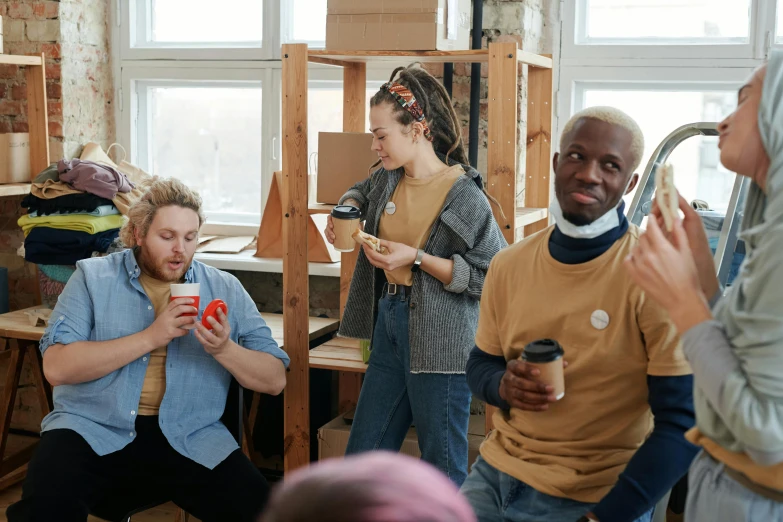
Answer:
<svg viewBox="0 0 783 522"><path fill-rule="evenodd" d="M371 147L372 134L318 133L318 203L336 205L349 188L367 179L370 167L378 161Z"/></svg>

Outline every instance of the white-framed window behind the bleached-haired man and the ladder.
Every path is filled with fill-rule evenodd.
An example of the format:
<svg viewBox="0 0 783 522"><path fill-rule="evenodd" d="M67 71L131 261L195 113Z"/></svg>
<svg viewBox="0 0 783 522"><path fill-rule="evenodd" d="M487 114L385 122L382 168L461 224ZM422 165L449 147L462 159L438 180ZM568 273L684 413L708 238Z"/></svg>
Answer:
<svg viewBox="0 0 783 522"><path fill-rule="evenodd" d="M676 128L717 123L734 110L737 89L771 45L783 44L770 38L781 6L783 0L575 0L575 9L562 13L556 128L586 107L624 110L644 132L641 174ZM725 212L735 175L718 158L717 139L699 137L682 142L669 161L688 200Z"/></svg>

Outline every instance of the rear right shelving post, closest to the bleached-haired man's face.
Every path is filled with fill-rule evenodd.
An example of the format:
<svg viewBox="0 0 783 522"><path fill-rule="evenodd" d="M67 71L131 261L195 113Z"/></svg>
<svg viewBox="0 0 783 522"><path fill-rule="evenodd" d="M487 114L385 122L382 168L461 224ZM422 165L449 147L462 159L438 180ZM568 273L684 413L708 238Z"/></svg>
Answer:
<svg viewBox="0 0 783 522"><path fill-rule="evenodd" d="M549 208L552 164L552 69L530 67L527 76L527 166L525 206ZM525 227L525 236L545 229L544 219Z"/></svg>

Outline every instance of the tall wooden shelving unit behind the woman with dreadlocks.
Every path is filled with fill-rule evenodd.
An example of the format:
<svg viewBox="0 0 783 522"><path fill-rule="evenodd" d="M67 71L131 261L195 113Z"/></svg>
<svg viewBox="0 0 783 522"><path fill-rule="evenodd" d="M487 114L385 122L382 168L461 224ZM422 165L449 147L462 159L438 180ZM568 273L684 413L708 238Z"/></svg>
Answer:
<svg viewBox="0 0 783 522"><path fill-rule="evenodd" d="M356 404L366 366L355 340L333 339L309 350L308 213L329 212L328 205L307 204L307 66L343 68L343 131L363 132L367 63L487 63L489 66L489 136L487 191L503 209L495 217L509 243L546 227L552 135L552 59L493 43L473 51L385 52L308 50L305 44L283 46L283 317L291 366L285 391L285 470L309 462L309 370L340 372L341 411ZM517 206L518 70L528 67L527 160L525 201ZM503 217L505 216L505 217ZM340 309L345 307L359 254L343 254Z"/></svg>

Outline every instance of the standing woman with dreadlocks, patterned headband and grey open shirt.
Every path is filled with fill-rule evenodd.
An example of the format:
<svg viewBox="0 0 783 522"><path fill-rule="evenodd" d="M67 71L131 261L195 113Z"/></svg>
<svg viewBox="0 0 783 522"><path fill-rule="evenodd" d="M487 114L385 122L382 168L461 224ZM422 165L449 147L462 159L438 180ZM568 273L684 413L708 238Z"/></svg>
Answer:
<svg viewBox="0 0 783 522"><path fill-rule="evenodd" d="M347 452L398 451L413 423L424 460L459 486L465 364L489 262L506 242L432 75L396 69L370 100L370 127L381 168L340 201L360 209L383 252L359 253L340 325L342 336L372 340ZM331 218L326 236L334 241Z"/></svg>

